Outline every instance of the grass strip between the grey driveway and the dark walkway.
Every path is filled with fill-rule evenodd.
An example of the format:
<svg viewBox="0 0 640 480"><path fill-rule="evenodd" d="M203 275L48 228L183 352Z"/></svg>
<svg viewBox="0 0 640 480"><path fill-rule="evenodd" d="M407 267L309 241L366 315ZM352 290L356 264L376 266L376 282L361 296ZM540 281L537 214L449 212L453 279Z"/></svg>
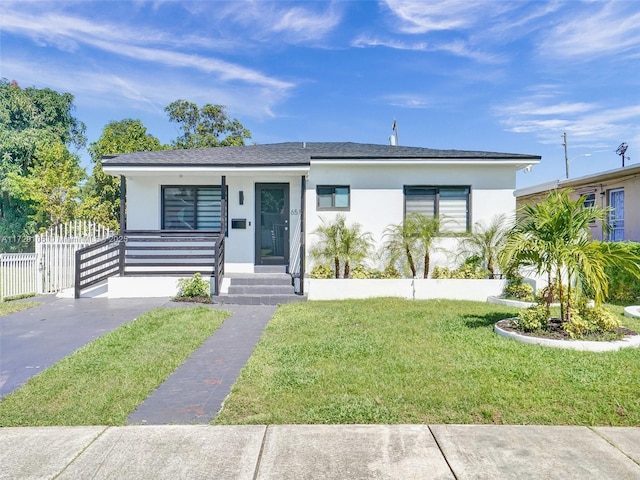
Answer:
<svg viewBox="0 0 640 480"><path fill-rule="evenodd" d="M0 426L122 425L229 315L155 309L98 338L0 402Z"/></svg>

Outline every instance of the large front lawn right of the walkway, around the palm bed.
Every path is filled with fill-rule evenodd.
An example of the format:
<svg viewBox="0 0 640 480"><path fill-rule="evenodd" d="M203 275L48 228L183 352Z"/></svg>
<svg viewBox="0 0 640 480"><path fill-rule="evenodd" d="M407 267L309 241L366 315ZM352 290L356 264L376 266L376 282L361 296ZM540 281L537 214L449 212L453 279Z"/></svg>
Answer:
<svg viewBox="0 0 640 480"><path fill-rule="evenodd" d="M215 423L640 425L640 349L578 352L493 333L515 314L389 298L282 306Z"/></svg>

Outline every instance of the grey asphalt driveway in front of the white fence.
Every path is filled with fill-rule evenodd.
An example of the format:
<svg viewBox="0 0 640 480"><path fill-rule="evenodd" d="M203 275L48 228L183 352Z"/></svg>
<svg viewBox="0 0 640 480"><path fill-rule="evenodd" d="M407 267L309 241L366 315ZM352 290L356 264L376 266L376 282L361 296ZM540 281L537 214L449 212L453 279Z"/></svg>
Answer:
<svg viewBox="0 0 640 480"><path fill-rule="evenodd" d="M42 304L0 317L0 398L92 340L169 302L55 296L35 300Z"/></svg>

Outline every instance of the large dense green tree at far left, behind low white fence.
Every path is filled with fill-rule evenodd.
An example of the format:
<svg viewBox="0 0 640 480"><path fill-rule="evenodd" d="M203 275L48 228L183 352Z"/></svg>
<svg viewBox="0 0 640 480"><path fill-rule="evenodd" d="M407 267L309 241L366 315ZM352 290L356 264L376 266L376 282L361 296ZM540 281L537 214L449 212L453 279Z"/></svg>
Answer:
<svg viewBox="0 0 640 480"><path fill-rule="evenodd" d="M15 81L0 81L0 251L26 250L30 246L28 238L48 227L47 222L56 217L38 213L41 202L27 198L29 192L37 192L28 188L29 182L16 179L42 173L37 167L36 152L41 158L50 151L68 159L71 154L61 153L60 145L66 150L84 146L85 126L73 116L73 110L73 95L69 93L48 88L23 89ZM71 163L49 164L48 169L60 167L61 171L47 174L62 178Z"/></svg>

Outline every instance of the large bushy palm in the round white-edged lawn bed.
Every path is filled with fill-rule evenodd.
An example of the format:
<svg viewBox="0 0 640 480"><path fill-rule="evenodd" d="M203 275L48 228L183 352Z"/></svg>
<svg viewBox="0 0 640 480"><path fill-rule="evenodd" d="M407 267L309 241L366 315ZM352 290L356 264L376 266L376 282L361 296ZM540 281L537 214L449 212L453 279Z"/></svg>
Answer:
<svg viewBox="0 0 640 480"><path fill-rule="evenodd" d="M590 226L595 222L604 225L608 210L585 207L584 200L571 200L570 191L562 190L523 207L504 250L504 259L512 267L535 267L538 274L546 274L550 286L559 286L561 317L566 321L571 321L574 290L580 296L588 287L596 304L604 301L609 287L605 267L635 269L636 275L640 269L640 258L627 249L591 241ZM549 303L550 297L547 308Z"/></svg>

